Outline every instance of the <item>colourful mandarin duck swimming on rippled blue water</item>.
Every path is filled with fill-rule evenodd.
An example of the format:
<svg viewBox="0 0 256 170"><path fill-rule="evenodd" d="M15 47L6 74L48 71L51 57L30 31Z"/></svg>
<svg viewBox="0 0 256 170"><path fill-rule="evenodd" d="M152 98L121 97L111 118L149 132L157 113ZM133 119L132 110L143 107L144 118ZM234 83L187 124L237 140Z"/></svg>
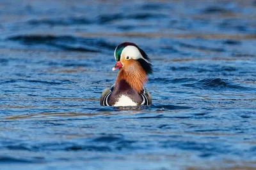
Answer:
<svg viewBox="0 0 256 170"><path fill-rule="evenodd" d="M149 92L144 88L147 74L152 73L148 55L134 43L121 43L114 52L119 69L115 84L104 89L100 96L102 106L140 106L152 104Z"/></svg>

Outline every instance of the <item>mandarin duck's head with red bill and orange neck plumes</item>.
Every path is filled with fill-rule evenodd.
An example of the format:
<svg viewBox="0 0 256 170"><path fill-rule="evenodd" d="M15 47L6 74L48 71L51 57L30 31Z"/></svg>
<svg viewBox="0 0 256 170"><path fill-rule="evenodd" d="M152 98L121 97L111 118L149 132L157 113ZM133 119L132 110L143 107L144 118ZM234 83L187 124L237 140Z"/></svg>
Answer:
<svg viewBox="0 0 256 170"><path fill-rule="evenodd" d="M116 82L124 79L137 92L143 90L148 81L147 74L152 73L152 64L148 55L134 43L121 43L114 52L116 64L112 68L119 69Z"/></svg>

